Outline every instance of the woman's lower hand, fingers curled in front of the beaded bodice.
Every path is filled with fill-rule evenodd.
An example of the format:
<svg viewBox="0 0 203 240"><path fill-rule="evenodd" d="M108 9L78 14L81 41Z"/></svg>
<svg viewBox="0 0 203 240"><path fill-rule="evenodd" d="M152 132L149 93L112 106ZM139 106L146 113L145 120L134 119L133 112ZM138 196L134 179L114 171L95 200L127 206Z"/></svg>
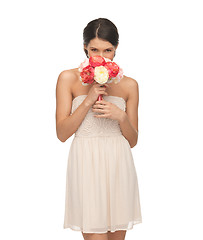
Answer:
<svg viewBox="0 0 203 240"><path fill-rule="evenodd" d="M123 116L123 110L121 110L115 104L105 101L104 99L96 101L92 106L92 111L102 113L94 115L96 118L110 118L119 121Z"/></svg>

